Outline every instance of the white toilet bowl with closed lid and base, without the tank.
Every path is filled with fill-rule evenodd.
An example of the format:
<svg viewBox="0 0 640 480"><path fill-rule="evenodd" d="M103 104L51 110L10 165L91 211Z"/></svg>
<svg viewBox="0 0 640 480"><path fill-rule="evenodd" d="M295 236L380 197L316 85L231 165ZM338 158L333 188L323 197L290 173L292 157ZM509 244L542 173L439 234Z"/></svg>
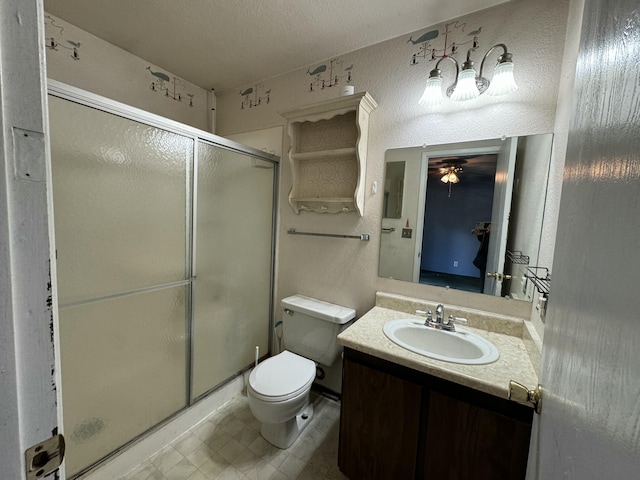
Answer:
<svg viewBox="0 0 640 480"><path fill-rule="evenodd" d="M288 448L313 418L309 403L315 362L287 350L268 358L249 375L249 408L262 423L260 433L278 448Z"/></svg>

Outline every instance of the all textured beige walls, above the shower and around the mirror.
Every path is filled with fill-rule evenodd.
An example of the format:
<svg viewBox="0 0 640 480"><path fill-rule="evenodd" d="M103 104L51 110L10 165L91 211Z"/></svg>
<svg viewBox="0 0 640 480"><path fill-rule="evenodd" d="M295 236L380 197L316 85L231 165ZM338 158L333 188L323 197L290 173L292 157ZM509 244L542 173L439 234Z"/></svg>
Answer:
<svg viewBox="0 0 640 480"><path fill-rule="evenodd" d="M579 11L577 7L573 10ZM555 132L549 196L550 203L557 204L568 125L566 111L571 103L575 68L573 46L577 43L579 32L578 23L578 26L572 27L572 37L567 39L565 45L568 11L568 0L535 3L514 0L458 19L458 25L466 25L464 32L454 29L451 37L454 41L467 41L467 32L482 27L480 49L473 54L476 66L480 62L480 55L496 43L507 44L513 53L520 89L503 102L480 98L473 105L448 105L438 107L432 113L417 104L426 76L434 63L419 58L417 65L410 65L412 55L418 53L419 45L409 43L409 37L417 38L434 28L442 31L444 24L425 26L420 31L334 59L342 62L339 70L346 65L353 65L352 84L356 91L368 91L379 104L370 122L365 214L362 218L355 213L321 215L302 212L296 215L287 201L291 171L286 158L283 159L276 308L281 298L302 293L356 308L361 315L373 305L375 292L383 290L529 316L530 306L519 302L379 278L378 249L383 195L381 188L377 194L373 194L371 185L374 181L378 186L383 185L387 149ZM195 92L194 107L190 108L185 102L177 102L151 90L150 84L155 77L146 69L147 66L173 78L170 72L54 17L49 16L45 23L47 42L54 38L58 44L67 47L71 45L70 41L81 44L80 60L73 60L69 49L47 49L50 78L197 128L208 129L211 120L208 118L206 90L185 82L185 91ZM60 26L64 28L64 35L60 32ZM441 41L436 39L432 43L434 47L440 47ZM561 53L563 49L568 52L564 58ZM464 57L465 52L466 47L461 47L458 57ZM491 58L496 55L494 53ZM307 72L320 64L322 62L270 79L256 79L254 85L238 86L219 93L216 133L235 136L280 127L285 122L278 111L337 97L339 87L309 91L311 77ZM443 67L443 75L445 81L447 78L452 81L451 66ZM256 85L260 91L270 91L270 102L241 109L243 97L239 92ZM560 105L558 110L556 104ZM287 142L285 138L284 152L288 148ZM552 209L547 213L541 264L550 265L557 211ZM286 230L292 227L336 233L370 233L372 240L359 242L287 235Z"/></svg>

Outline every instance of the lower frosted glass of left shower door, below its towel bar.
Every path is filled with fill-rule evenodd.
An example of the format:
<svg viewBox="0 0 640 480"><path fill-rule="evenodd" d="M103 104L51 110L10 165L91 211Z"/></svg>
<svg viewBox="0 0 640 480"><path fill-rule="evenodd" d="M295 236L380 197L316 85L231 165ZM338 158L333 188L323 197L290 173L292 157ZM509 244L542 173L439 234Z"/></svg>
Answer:
<svg viewBox="0 0 640 480"><path fill-rule="evenodd" d="M68 475L186 405L185 297L182 286L60 309Z"/></svg>

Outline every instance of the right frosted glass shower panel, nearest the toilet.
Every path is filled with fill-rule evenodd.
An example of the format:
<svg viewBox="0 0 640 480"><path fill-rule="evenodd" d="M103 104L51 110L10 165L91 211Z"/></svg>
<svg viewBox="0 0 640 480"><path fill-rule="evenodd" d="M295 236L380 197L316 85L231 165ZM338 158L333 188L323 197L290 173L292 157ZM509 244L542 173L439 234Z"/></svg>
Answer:
<svg viewBox="0 0 640 480"><path fill-rule="evenodd" d="M274 166L198 149L193 397L268 350Z"/></svg>

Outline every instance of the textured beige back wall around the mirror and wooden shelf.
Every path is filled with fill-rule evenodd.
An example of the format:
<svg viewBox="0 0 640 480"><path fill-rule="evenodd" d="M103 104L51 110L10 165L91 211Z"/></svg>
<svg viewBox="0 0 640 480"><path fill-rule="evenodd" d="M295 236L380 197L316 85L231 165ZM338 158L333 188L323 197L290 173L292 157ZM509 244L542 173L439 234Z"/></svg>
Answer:
<svg viewBox="0 0 640 480"><path fill-rule="evenodd" d="M373 194L371 185L374 181L383 184L384 155L390 148L553 132L559 90L568 90L563 82L573 78L571 72L561 76L568 8L568 0L516 0L459 19L460 23L466 22L466 32L482 27L479 35L481 52L496 43L506 43L513 53L520 89L502 102L481 97L472 105L443 106L434 113L426 112L417 104L434 64L421 59L418 65L410 66L417 46L408 40L410 35L417 38L433 28L442 30L443 24L427 26L413 34L336 59L342 61L343 66L353 64L351 71L356 92L369 92L379 104L370 121L365 214L362 218L355 213L302 212L296 215L287 202L291 171L285 159L280 182L276 302L287 295L301 293L353 307L358 315L362 315L374 304L375 292L382 290L529 316L529 304L379 278L383 196L380 188ZM463 40L467 37L460 37L459 41ZM466 53L464 48L461 51L458 56ZM476 66L479 65L478 57L478 54L473 55ZM572 60L566 61L569 67ZM279 110L337 97L338 88L309 91L307 71L320 64L260 80L261 88L271 90L270 103L255 108L240 108L238 92L250 85L221 92L217 100L218 133L224 136L282 125L284 120L278 114ZM447 68L451 67L445 66L443 74L452 79ZM286 146L284 151L287 151ZM552 176L556 179L555 184L559 184L558 179L562 176L563 153L554 152ZM555 218L555 214L551 217ZM371 241L291 236L286 234L289 228L369 233ZM547 256L548 250L552 251L555 224L549 229L552 235L546 236L551 244L547 247Z"/></svg>

